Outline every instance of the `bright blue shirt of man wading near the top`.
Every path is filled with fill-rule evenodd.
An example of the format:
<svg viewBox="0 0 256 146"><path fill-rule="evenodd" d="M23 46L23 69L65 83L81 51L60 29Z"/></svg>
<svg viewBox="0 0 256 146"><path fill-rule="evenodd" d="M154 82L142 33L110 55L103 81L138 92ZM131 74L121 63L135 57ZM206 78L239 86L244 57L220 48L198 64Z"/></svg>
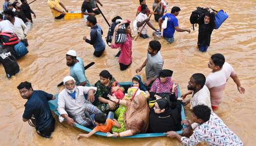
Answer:
<svg viewBox="0 0 256 146"><path fill-rule="evenodd" d="M164 16L162 16L162 19L164 20L165 17L168 17L167 21L167 27L163 30L163 37L165 38L173 38L175 33L175 28L178 27L178 19L175 17L174 14L166 13Z"/></svg>

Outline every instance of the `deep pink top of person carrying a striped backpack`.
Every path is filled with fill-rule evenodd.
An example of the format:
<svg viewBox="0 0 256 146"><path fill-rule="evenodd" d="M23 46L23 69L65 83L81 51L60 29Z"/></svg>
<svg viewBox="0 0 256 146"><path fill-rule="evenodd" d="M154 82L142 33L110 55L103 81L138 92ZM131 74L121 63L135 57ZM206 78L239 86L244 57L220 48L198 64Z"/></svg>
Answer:
<svg viewBox="0 0 256 146"><path fill-rule="evenodd" d="M124 65L129 65L132 63L132 37L129 34L126 34L126 41L122 44L116 43L111 44L111 48L121 48L121 53L119 56L119 63Z"/></svg>

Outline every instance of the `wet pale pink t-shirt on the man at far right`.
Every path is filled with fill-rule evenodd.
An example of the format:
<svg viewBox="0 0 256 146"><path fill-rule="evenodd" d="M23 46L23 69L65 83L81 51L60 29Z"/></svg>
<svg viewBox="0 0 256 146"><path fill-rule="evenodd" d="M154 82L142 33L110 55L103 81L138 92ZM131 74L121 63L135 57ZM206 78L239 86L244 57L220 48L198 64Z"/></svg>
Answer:
<svg viewBox="0 0 256 146"><path fill-rule="evenodd" d="M233 67L225 62L221 70L211 72L206 77L205 85L209 88L212 106L218 106L221 103L226 82L231 75L235 74Z"/></svg>

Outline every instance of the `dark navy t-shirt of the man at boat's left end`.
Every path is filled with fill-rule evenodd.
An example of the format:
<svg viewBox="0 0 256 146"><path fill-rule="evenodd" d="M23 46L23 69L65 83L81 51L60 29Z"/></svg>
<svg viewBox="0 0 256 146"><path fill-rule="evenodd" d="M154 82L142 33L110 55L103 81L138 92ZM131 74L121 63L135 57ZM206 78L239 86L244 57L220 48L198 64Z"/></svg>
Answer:
<svg viewBox="0 0 256 146"><path fill-rule="evenodd" d="M53 95L41 90L34 90L25 106L23 118L30 119L32 115L36 120L36 130L42 131L54 125L54 118L48 101Z"/></svg>

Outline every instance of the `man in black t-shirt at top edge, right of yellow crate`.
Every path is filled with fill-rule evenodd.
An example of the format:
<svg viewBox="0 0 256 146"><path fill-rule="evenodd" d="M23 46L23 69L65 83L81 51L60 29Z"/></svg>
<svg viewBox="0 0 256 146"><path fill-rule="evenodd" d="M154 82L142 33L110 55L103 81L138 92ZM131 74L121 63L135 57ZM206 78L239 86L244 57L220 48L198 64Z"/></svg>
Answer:
<svg viewBox="0 0 256 146"><path fill-rule="evenodd" d="M89 16L95 16L100 14L98 8L96 7L96 2L100 4L102 7L103 5L99 2L99 0L84 0L82 3L82 14L83 15L89 15ZM86 12L87 10L87 12Z"/></svg>

